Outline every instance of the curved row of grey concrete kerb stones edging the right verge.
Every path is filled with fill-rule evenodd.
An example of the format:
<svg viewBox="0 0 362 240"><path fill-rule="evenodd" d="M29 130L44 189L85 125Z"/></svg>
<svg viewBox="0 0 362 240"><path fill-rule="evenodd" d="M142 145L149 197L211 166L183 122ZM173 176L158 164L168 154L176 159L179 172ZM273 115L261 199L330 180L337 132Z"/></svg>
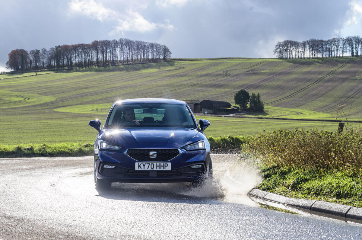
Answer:
<svg viewBox="0 0 362 240"><path fill-rule="evenodd" d="M362 220L362 208L359 207L351 207L324 201L288 198L278 194L262 191L260 189L252 189L251 191L249 191L248 195L255 198L263 199L264 201L280 203L285 206L303 208L306 210L340 216L343 218Z"/></svg>

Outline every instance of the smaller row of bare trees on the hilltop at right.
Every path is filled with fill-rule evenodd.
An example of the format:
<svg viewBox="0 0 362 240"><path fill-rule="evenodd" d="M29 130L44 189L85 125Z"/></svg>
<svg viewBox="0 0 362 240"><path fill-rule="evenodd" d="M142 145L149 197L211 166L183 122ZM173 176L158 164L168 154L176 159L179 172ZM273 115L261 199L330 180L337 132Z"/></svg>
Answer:
<svg viewBox="0 0 362 240"><path fill-rule="evenodd" d="M274 48L276 58L335 58L359 56L362 53L362 38L359 36L334 37L329 40L310 40L298 42L285 40Z"/></svg>

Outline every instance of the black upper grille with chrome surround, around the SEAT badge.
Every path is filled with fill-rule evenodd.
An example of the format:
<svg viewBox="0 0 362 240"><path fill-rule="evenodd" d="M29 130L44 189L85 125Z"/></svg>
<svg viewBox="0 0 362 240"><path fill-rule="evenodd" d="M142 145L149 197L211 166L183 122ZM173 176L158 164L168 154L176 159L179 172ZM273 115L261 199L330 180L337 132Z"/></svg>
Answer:
<svg viewBox="0 0 362 240"><path fill-rule="evenodd" d="M150 152L156 152L156 157L151 158ZM176 157L180 152L178 149L128 149L127 155L137 161L169 161Z"/></svg>

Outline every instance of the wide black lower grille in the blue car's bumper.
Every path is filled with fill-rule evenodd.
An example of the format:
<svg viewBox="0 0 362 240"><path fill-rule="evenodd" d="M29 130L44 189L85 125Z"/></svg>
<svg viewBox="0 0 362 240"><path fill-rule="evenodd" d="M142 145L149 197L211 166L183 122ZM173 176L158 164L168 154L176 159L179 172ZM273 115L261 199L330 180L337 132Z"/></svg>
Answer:
<svg viewBox="0 0 362 240"><path fill-rule="evenodd" d="M155 172L155 171L152 171ZM205 174L204 167L202 168L191 168L191 167L181 167L178 169L172 169L171 171L156 171L156 176L150 177L150 171L136 171L134 169L127 169L124 167L114 167L111 168L101 168L101 173L108 177L147 177L147 178L157 178L157 177L199 177Z"/></svg>

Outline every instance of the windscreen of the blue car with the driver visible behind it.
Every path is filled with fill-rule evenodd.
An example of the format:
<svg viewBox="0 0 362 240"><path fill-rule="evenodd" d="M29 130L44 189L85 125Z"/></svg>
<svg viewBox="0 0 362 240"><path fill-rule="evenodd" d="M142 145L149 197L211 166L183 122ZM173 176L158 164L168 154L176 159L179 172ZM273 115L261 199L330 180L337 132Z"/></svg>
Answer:
<svg viewBox="0 0 362 240"><path fill-rule="evenodd" d="M192 113L181 104L122 104L110 112L106 128L195 128Z"/></svg>

